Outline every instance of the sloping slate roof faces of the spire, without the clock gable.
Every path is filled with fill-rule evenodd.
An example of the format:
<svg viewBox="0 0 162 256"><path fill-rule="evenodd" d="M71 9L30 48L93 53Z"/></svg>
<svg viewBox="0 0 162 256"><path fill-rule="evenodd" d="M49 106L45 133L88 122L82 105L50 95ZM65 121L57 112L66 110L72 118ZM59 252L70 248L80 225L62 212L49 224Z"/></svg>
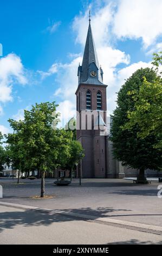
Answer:
<svg viewBox="0 0 162 256"><path fill-rule="evenodd" d="M85 51L83 54L83 61L82 61L82 75L81 75L81 81L82 83L90 82L88 81L88 68L89 64L95 63L96 67L98 68L98 81L96 81L96 84L103 84L102 83L102 77L101 77L101 72L100 72L100 66L99 66L99 61L98 61L98 56L96 53L95 49L95 44L94 44L94 39L93 39L93 34L92 34L92 29L90 26L90 21L89 21L89 27L88 27L88 33L87 33L87 39L86 39L86 46L85 46ZM102 71L103 72L103 71ZM93 82L94 83L94 82Z"/></svg>

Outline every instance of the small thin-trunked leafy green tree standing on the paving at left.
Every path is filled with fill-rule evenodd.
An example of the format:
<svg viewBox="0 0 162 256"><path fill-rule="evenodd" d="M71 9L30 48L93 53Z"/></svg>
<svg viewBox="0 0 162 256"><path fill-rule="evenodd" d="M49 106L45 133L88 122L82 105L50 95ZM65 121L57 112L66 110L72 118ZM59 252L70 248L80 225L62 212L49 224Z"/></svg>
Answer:
<svg viewBox="0 0 162 256"><path fill-rule="evenodd" d="M61 138L53 129L57 118L55 102L45 102L24 111L24 120L9 119L13 134L7 137L11 161L19 169L36 168L41 173L41 197L44 197L44 176L47 170L55 168Z"/></svg>

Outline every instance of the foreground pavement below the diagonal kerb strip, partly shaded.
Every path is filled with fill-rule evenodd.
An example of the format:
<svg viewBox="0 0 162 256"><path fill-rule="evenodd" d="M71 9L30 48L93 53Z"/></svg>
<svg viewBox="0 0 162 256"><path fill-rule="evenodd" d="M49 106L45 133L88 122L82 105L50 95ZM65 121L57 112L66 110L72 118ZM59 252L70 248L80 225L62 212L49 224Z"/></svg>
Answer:
<svg viewBox="0 0 162 256"><path fill-rule="evenodd" d="M106 220L13 204L1 204L0 213L1 244L162 244L158 231L132 230L124 223L119 227Z"/></svg>

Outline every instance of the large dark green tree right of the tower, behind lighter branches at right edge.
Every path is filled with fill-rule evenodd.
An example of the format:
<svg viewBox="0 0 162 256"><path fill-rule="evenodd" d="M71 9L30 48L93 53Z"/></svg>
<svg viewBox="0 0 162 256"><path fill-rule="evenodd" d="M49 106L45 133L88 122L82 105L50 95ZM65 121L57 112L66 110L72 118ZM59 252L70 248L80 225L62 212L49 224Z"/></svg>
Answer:
<svg viewBox="0 0 162 256"><path fill-rule="evenodd" d="M146 182L147 168L160 170L162 159L161 150L154 148L158 143L158 136L150 134L145 138L139 137L140 127L134 124L124 129L128 123L128 113L134 111L134 93L139 93L144 82L153 83L157 79L157 72L153 69L139 69L128 78L118 93L118 100L112 116L111 140L114 147L114 156L124 166L139 169L138 182Z"/></svg>

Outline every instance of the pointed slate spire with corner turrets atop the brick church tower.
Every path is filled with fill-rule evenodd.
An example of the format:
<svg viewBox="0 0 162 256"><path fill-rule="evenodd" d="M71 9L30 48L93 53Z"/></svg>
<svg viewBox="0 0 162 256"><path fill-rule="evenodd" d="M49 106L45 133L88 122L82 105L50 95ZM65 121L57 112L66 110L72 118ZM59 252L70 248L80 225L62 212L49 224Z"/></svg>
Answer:
<svg viewBox="0 0 162 256"><path fill-rule="evenodd" d="M80 66L79 71L79 83L103 84L92 28L90 26L90 11L86 46L83 54L82 66ZM94 71L94 75L90 75L92 71Z"/></svg>

